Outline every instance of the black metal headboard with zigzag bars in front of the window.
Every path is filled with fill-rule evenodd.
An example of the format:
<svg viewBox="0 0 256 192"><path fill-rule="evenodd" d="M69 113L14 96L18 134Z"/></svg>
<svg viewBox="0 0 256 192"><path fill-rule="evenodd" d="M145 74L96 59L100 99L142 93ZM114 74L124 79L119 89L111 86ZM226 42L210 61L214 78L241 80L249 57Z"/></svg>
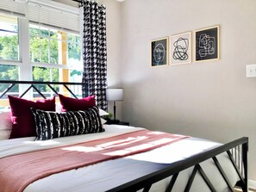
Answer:
<svg viewBox="0 0 256 192"><path fill-rule="evenodd" d="M9 84L9 87L5 90L3 90L3 93L0 96L0 99L2 99L3 96L5 96L16 84L28 84L30 85L28 87L27 90L23 91L22 94L19 96L20 98L22 98L22 96L24 96L28 90L34 89L36 92L38 92L38 94L40 94L43 98L47 98L42 92L41 90L38 90L35 87L35 84L41 84L41 85L47 85L51 90L53 90L53 92L58 95L58 91L53 87L53 85L63 85L66 90L72 94L73 97L78 98L73 92L72 90L69 89L68 85L83 85L83 83L71 83L71 82L41 82L41 81L0 81L0 84Z"/></svg>

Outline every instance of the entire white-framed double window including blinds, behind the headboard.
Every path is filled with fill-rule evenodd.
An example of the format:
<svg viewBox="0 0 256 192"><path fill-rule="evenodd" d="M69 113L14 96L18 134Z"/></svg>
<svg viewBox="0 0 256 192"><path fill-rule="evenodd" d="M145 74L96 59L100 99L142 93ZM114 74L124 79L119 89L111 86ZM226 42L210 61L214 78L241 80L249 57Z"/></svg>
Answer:
<svg viewBox="0 0 256 192"><path fill-rule="evenodd" d="M50 0L0 2L0 80L82 81L78 8ZM0 84L0 94L7 86Z"/></svg>

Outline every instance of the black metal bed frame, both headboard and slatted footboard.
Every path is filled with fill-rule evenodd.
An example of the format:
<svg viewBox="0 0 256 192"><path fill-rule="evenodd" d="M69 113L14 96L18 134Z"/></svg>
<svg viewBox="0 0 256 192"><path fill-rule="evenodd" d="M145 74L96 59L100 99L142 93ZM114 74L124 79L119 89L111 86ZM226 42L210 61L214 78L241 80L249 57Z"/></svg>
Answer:
<svg viewBox="0 0 256 192"><path fill-rule="evenodd" d="M77 96L68 88L68 85L83 85L83 83L67 83L67 82L33 82L33 81L0 81L0 84L9 84L9 87L3 91L0 95L0 99L6 95L9 90L11 90L16 84L29 84L27 90L25 90L20 97L24 96L28 90L34 89L36 92L38 92L43 98L46 98L41 93L41 90L38 90L34 85L35 84L45 84L47 85L53 92L58 96L57 90L53 88L52 85L59 84L64 85L66 90L68 90L72 96L77 98ZM247 165L247 152L248 152L248 138L242 137L240 139L236 139L234 141L231 141L227 144L224 144L222 146L215 147L214 149L211 149L207 152L199 153L195 156L192 156L190 158L186 158L184 160L180 160L176 163L170 164L163 170L155 171L151 174L148 174L147 176L140 177L135 179L134 181L130 181L128 183L122 184L121 186L117 186L114 189L109 189L108 192L116 192L116 191L127 191L127 192L133 192L137 191L139 189L143 189L143 192L149 191L151 189L151 186L153 183L157 183L160 180L171 177L169 185L167 186L167 189L165 189L165 192L172 191L172 188L178 178L178 174L180 171L185 170L187 168L193 167L192 173L190 175L190 178L188 180L188 183L186 184L186 187L184 189L185 192L190 191L190 187L193 183L193 180L197 174L197 171L203 177L204 182L208 185L210 191L215 192L216 189L213 186L213 184L209 181L209 178L205 174L203 168L201 167L200 163L203 161L212 158L215 166L220 171L223 179L227 183L228 189L230 191L234 191L234 186L229 182L228 177L224 170L222 169L221 164L219 163L217 159L217 155L227 152L228 158L230 159L231 163L234 165L234 169L236 170L236 173L240 177L240 181L236 183L237 186L239 186L243 192L248 191L248 165Z"/></svg>

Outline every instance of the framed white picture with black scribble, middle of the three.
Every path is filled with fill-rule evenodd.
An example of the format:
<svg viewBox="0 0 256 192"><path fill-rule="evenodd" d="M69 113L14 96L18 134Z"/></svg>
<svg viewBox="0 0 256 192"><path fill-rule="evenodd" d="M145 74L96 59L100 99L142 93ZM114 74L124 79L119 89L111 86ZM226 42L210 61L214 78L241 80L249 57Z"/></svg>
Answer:
<svg viewBox="0 0 256 192"><path fill-rule="evenodd" d="M191 32L175 34L171 36L172 65L190 64L191 63Z"/></svg>

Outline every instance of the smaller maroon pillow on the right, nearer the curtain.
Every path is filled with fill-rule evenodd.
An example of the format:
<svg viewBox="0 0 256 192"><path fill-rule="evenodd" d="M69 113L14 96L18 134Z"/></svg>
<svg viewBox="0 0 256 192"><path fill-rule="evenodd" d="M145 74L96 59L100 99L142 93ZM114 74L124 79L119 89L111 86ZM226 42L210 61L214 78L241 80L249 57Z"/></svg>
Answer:
<svg viewBox="0 0 256 192"><path fill-rule="evenodd" d="M82 99L75 99L59 94L59 102L62 105L62 112L85 110L96 106L94 96L88 96Z"/></svg>

